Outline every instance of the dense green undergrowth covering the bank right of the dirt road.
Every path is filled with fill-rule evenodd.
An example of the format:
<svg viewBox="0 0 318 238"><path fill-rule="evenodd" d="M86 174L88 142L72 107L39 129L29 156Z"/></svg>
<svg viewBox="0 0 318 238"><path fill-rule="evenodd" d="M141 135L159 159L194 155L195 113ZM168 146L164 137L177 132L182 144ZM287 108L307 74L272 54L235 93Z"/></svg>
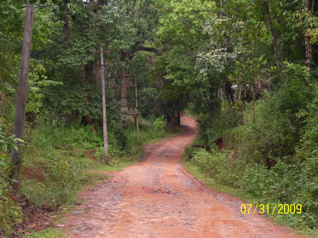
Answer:
<svg viewBox="0 0 318 238"><path fill-rule="evenodd" d="M287 85L288 86L288 85ZM301 214L277 214L276 220L304 229L318 228L318 89L297 85L245 103L239 115L236 103L224 103L218 114L200 115L201 142L193 162L217 183L243 189L258 202L301 204ZM307 89L306 89L307 87ZM313 98L288 100L291 93L313 90ZM240 123L244 118L244 125ZM221 149L218 148L217 144Z"/></svg>

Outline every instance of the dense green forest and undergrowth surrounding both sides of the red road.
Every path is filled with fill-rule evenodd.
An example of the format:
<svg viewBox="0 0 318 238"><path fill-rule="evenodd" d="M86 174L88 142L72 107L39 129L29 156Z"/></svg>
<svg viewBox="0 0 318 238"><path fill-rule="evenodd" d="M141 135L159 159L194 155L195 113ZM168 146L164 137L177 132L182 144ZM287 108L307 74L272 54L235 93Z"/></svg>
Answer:
<svg viewBox="0 0 318 238"><path fill-rule="evenodd" d="M202 145L189 148L195 166L261 202L301 204L287 224L318 228L317 2L0 0L0 9L3 234L24 219L17 199L74 202L74 187L94 180L87 150L100 162L134 160L186 110ZM127 115L136 96L140 144Z"/></svg>

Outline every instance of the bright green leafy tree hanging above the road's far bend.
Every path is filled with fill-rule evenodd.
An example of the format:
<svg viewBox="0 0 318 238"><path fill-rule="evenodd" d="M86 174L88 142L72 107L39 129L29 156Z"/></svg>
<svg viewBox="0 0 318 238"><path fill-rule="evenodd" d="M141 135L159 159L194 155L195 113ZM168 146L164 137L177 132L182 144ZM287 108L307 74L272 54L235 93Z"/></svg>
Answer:
<svg viewBox="0 0 318 238"><path fill-rule="evenodd" d="M196 50L204 42L203 23L211 17L211 1L158 1L161 43L156 59L157 76L162 80L162 111L167 123L180 125L180 115L194 86Z"/></svg>

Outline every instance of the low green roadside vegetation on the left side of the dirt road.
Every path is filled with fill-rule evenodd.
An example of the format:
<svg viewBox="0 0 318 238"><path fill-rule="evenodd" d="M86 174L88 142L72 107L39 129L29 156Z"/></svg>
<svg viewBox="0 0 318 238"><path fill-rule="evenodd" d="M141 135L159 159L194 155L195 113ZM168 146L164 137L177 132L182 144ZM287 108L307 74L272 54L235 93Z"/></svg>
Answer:
<svg viewBox="0 0 318 238"><path fill-rule="evenodd" d="M164 124L160 124L153 127L149 122L141 123L140 144L136 142L133 122L127 122L128 129L125 131L119 128L112 132L110 129L110 162L105 164L102 136L96 136L91 126L44 123L24 137L18 193L9 189L9 163L4 160L8 150L2 147L0 236L33 234L35 237L50 237L52 228L48 229L48 233L43 231L42 236L33 232L52 226L56 219L54 214L70 211L66 205L79 203L77 193L84 185L94 186L95 182L108 179L102 171L123 169L138 160L143 153L143 144L170 136ZM6 130L3 126L1 128ZM6 142L10 148L10 138Z"/></svg>

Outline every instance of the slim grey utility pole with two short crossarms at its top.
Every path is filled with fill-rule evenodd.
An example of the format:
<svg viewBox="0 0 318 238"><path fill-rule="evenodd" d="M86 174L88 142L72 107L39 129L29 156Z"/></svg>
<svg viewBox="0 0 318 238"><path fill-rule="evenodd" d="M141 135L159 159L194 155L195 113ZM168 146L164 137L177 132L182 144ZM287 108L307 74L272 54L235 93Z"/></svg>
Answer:
<svg viewBox="0 0 318 238"><path fill-rule="evenodd" d="M105 77L104 77L104 52L102 44L100 44L100 50L93 52L97 53L100 52L100 70L101 70L101 96L102 96L102 104L103 104L103 140L104 140L104 162L108 164L108 137L107 137L107 116L106 116L106 98L105 98Z"/></svg>

